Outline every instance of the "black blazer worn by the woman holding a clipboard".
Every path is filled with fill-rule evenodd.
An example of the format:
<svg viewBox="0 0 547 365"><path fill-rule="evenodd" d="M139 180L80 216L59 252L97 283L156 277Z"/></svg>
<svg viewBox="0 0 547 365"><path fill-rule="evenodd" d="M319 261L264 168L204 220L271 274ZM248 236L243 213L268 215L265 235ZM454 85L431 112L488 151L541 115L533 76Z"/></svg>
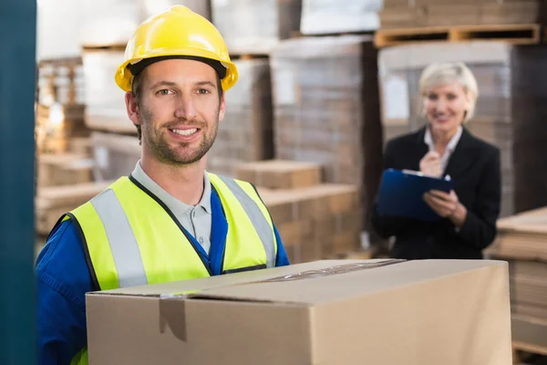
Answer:
<svg viewBox="0 0 547 365"><path fill-rule="evenodd" d="M384 168L419 170L419 162L428 152L425 127L387 143ZM444 172L455 180L454 191L468 210L459 229L449 219L421 222L377 214L372 225L383 238L395 236L392 253L405 259L482 258L482 250L496 236L496 221L501 204L500 150L463 129L456 149Z"/></svg>

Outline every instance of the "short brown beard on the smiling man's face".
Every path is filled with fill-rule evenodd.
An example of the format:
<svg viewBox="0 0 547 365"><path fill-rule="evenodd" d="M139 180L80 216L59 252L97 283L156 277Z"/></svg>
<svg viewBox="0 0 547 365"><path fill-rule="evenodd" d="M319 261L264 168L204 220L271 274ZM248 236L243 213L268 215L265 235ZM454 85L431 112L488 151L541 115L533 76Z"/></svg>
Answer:
<svg viewBox="0 0 547 365"><path fill-rule="evenodd" d="M215 123L212 125L212 130L208 130L207 124L203 121L191 121L192 126L196 126L200 129L202 135L200 145L197 149L191 151L181 152L181 150L190 149L190 143L176 142L176 147L171 147L165 140L165 133L167 129L175 126L181 126L184 124L190 124L188 122L174 120L170 123L165 123L160 126L160 129L154 128L154 117L150 110L139 107L140 110L140 123L142 129L142 136L145 143L150 147L150 151L154 154L160 162L170 165L190 165L201 161L203 156L211 149L212 143L216 139L218 127L219 127L219 113L216 113ZM209 131L209 132L208 132Z"/></svg>

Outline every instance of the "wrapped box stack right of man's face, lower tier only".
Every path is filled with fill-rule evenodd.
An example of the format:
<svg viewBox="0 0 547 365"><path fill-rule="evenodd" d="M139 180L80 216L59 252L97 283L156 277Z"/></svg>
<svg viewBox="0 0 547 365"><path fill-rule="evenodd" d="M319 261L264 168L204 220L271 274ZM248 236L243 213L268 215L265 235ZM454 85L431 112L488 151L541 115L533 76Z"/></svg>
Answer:
<svg viewBox="0 0 547 365"><path fill-rule="evenodd" d="M241 162L274 157L272 85L267 58L234 61L239 80L226 94L226 114L208 154L208 170L233 177Z"/></svg>

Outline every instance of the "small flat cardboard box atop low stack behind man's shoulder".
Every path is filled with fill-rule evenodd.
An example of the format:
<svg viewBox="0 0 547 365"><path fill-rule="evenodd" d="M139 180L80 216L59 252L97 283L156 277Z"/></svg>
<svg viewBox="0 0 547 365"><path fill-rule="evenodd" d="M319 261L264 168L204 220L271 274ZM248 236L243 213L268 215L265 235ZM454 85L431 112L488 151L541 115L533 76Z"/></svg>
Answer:
<svg viewBox="0 0 547 365"><path fill-rule="evenodd" d="M298 189L321 183L321 165L269 160L238 166L236 178L268 189Z"/></svg>

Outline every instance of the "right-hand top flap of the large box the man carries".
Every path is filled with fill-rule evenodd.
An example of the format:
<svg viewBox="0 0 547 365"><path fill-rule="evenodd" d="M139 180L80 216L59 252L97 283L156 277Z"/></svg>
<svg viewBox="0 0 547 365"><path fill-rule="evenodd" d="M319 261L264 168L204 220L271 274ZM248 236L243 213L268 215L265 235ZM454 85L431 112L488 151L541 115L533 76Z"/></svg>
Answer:
<svg viewBox="0 0 547 365"><path fill-rule="evenodd" d="M286 279L280 276L260 282L215 287L191 293L188 298L318 305L373 295L420 282L442 280L446 276L488 266L507 265L502 261L480 260L393 260L378 265L366 262L361 264L339 263L339 267L323 273L304 272Z"/></svg>

